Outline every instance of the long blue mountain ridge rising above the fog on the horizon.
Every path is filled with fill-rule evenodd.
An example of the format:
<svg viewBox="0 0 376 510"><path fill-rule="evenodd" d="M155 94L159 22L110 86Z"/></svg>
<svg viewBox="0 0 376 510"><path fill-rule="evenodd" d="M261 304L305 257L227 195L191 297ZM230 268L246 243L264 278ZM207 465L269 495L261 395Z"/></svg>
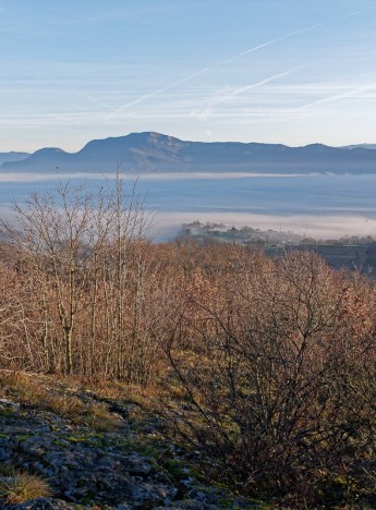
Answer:
<svg viewBox="0 0 376 510"><path fill-rule="evenodd" d="M2 172L376 172L376 151L312 144L183 142L159 133L132 133L94 139L78 153L43 148L22 161L4 162Z"/></svg>

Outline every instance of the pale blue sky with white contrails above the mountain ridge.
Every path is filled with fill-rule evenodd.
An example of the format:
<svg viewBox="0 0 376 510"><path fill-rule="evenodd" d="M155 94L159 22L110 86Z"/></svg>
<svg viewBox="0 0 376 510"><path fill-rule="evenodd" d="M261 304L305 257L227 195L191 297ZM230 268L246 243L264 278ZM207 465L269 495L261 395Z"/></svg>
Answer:
<svg viewBox="0 0 376 510"><path fill-rule="evenodd" d="M375 0L0 0L0 151L376 143Z"/></svg>

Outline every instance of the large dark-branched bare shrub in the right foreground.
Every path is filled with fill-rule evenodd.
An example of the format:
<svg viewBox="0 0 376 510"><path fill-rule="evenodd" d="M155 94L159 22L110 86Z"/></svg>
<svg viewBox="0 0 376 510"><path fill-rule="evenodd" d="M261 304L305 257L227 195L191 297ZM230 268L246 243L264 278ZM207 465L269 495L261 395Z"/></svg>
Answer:
<svg viewBox="0 0 376 510"><path fill-rule="evenodd" d="M191 280L167 349L170 385L184 390L185 403L170 402L168 417L243 490L317 502L333 474L350 470L350 451L360 454L373 440L372 319L367 329L357 314L343 321L354 284L315 254L271 260L239 253L230 267ZM195 339L182 351L186 328Z"/></svg>

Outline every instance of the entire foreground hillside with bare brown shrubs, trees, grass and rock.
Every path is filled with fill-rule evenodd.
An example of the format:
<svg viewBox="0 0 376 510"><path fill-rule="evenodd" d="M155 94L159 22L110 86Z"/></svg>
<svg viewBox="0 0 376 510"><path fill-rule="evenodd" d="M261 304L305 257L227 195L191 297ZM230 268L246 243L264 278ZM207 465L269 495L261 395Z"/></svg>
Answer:
<svg viewBox="0 0 376 510"><path fill-rule="evenodd" d="M310 251L153 244L119 180L14 215L3 507L376 507L372 279Z"/></svg>

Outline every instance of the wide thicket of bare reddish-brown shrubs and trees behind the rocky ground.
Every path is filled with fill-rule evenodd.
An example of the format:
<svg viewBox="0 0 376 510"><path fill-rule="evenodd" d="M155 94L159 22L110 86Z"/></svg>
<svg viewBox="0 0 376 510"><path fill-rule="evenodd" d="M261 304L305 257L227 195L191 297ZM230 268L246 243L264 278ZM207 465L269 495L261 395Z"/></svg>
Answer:
<svg viewBox="0 0 376 510"><path fill-rule="evenodd" d="M314 253L153 244L118 180L2 221L0 365L158 385L207 473L294 508L376 505L376 292Z"/></svg>

